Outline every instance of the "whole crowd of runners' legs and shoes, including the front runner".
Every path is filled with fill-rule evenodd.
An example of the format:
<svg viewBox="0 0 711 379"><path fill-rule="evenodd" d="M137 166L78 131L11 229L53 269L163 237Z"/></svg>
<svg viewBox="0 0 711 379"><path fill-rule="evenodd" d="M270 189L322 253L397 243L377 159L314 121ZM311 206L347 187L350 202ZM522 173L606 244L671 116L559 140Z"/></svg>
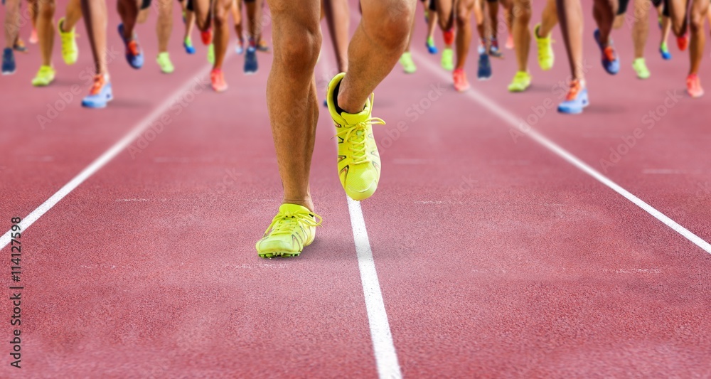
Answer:
<svg viewBox="0 0 711 379"><path fill-rule="evenodd" d="M159 41L156 63L163 73L175 70L168 53L173 28L173 1L156 1ZM459 92L469 90L465 72L466 60L476 51L476 78L492 75L491 58L503 58L504 50L513 50L518 68L508 85L510 92L523 92L533 80L528 67L530 44L535 41L538 65L551 70L555 65L551 33L560 25L570 69L567 96L557 107L566 114L577 114L589 105L583 67L582 43L585 38L599 46L602 67L610 75L620 70L620 59L612 41L614 29L628 25L634 41L631 63L637 77L650 78L644 56L648 40L650 13L658 16L658 51L664 60L672 59L668 39L673 33L678 50L689 50L686 88L690 97L701 97L700 63L705 45L705 22L711 20L710 0L594 0L589 9L597 24L590 36L583 34L583 11L590 6L582 0L545 0L538 18L530 0L422 0L427 36L424 45L430 54L441 54L442 70L451 71L452 83ZM631 1L631 4L629 4ZM230 50L231 25L237 36L235 51L245 56L244 72L258 70L257 52L269 52L262 40L263 0L183 0L184 34L181 43L187 54L195 54L191 34L196 26L201 42L208 46L207 59L213 69L213 90L223 92L228 85L223 62ZM338 70L331 80L325 104L333 119L338 137L337 168L348 196L363 200L373 195L380 178L380 157L373 138L373 124L383 123L372 117L373 90L397 65L414 74L417 63L410 53L417 0L361 0L351 7L348 0L269 0L272 25L273 61L267 82L267 109L277 150L277 163L282 178L284 198L279 213L257 242L262 257L299 255L315 236L321 218L314 213L309 191L311 155L314 149L319 100L314 81L314 67L321 52L321 20L326 18L331 33ZM21 0L4 0L5 41L2 73L15 72L16 52L27 47L18 35ZM32 85L50 85L55 78L52 52L55 33L60 36L61 53L66 64L76 63L77 23L84 18L87 36L95 61L94 84L82 100L82 106L106 107L112 100L112 86L107 68L107 4L105 0L68 0L65 9L57 10L55 0L28 0L32 21L30 43L38 44L41 62ZM135 26L144 22L151 0L117 0L122 20L115 26L125 45L127 62L132 68L144 65ZM245 9L246 18L242 18ZM361 18L351 36L351 12ZM55 13L62 13L55 24ZM500 14L501 13L501 22ZM232 23L228 18L232 17ZM246 22L243 20L246 19ZM531 27L532 20L535 22ZM479 37L476 50L472 22ZM444 46L437 46L437 29ZM654 26L653 28L657 28ZM499 43L499 33L506 31L507 40ZM625 38L626 36L617 36ZM676 58L679 59L679 58ZM30 66L24 64L23 68ZM681 80L681 78L680 78Z"/></svg>

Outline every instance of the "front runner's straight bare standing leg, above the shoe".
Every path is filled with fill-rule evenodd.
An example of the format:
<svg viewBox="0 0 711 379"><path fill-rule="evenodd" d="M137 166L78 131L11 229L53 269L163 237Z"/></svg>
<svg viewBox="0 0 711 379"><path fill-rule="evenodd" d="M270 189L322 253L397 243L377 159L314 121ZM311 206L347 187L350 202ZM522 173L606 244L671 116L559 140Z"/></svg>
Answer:
<svg viewBox="0 0 711 379"><path fill-rule="evenodd" d="M267 107L277 150L283 203L314 210L309 191L319 106L314 67L321 48L319 1L269 0L274 60Z"/></svg>

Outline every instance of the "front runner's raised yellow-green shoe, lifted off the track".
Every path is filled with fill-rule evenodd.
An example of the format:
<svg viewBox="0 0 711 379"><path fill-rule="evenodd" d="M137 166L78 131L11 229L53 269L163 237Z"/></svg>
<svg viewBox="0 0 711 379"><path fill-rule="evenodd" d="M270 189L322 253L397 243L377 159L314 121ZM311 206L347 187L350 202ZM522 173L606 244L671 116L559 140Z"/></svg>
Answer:
<svg viewBox="0 0 711 379"><path fill-rule="evenodd" d="M365 200L375 193L380 180L380 155L373 138L373 124L385 124L371 117L373 95L365 100L362 111L350 114L336 110L335 97L346 73L340 73L328 83L326 103L336 126L338 138L338 176L346 195L353 200Z"/></svg>

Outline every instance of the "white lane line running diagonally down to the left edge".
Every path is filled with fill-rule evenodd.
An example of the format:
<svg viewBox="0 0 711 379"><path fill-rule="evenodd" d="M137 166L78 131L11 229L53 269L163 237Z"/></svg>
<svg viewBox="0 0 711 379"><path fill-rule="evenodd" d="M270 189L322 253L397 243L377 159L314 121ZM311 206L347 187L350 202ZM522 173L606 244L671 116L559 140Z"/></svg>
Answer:
<svg viewBox="0 0 711 379"><path fill-rule="evenodd" d="M228 54L228 56L225 58L225 61L230 59L232 55L233 54ZM30 214L22 218L20 227L23 233L27 230L27 228L30 227L30 225L35 223L36 220L38 220L42 217L42 215L47 213L48 210L52 209L54 205L57 205L57 203L59 203L65 196L67 196L70 192L74 191L75 188L80 186L81 183L84 183L87 178L95 174L97 171L102 169L103 166L109 163L109 161L114 159L121 151L123 151L123 149L129 146L129 144L131 144L134 139L137 139L139 135L141 135L141 133L148 129L154 119L160 117L161 114L163 114L163 112L165 112L171 105L173 105L173 102L178 100L184 92L187 92L191 87L197 85L198 78L205 77L205 75L208 74L209 70L210 67L208 66L198 71L197 75L191 76L191 78L187 80L180 88L178 88L178 90L173 92L170 97L168 97L164 102L161 103L161 105L156 107L153 112L141 119L141 121L136 124L136 126L131 129L128 134L126 134L122 139L120 139L119 142L114 144L114 146L111 146L107 151L105 151L104 154L101 154L101 156L95 159L95 161L93 161L89 166L87 166L87 168L83 169L79 174L77 174L77 176L70 180L69 183L66 183L62 188L59 189L59 191L57 191L54 195L48 198L47 201L38 206L38 208L33 210ZM14 216L15 215L13 215L13 217ZM4 249L10 243L11 232L11 230L8 230L7 233L0 237L0 250Z"/></svg>

